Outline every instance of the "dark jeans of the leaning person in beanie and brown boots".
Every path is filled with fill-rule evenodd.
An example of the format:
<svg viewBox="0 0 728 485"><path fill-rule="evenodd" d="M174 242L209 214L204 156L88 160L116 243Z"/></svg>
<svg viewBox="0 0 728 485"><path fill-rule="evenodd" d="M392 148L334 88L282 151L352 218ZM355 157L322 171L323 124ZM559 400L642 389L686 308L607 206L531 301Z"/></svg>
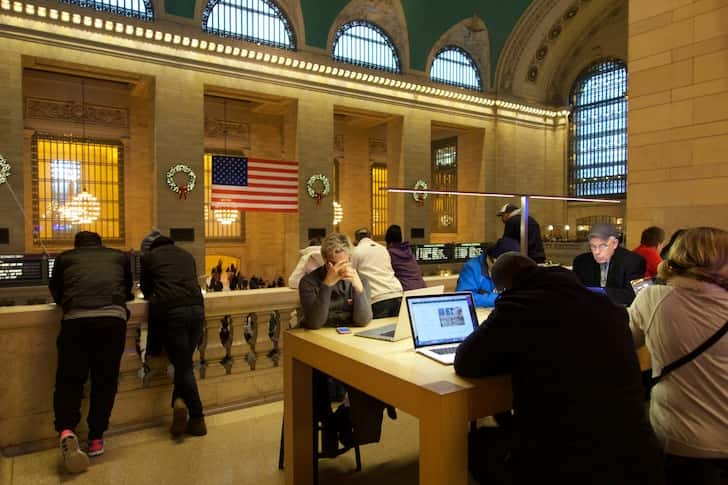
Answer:
<svg viewBox="0 0 728 485"><path fill-rule="evenodd" d="M201 418L202 402L192 371L192 354L202 337L205 309L201 305L172 308L164 314L164 348L174 366L172 404L178 397L187 406L191 418Z"/></svg>

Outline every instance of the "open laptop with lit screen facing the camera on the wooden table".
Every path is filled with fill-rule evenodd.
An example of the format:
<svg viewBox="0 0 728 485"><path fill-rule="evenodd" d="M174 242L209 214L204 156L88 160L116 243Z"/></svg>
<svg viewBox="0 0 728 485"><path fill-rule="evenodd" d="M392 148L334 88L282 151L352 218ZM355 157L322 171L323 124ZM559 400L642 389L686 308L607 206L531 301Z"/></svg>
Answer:
<svg viewBox="0 0 728 485"><path fill-rule="evenodd" d="M408 296L407 310L415 352L452 364L455 351L478 328L473 294Z"/></svg>

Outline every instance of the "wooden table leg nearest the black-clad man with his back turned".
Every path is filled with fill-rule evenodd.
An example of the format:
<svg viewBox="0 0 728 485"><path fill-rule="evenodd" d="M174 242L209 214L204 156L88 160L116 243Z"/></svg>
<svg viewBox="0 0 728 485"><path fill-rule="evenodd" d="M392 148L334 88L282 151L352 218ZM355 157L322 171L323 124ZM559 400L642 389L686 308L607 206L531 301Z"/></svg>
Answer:
<svg viewBox="0 0 728 485"><path fill-rule="evenodd" d="M467 402L441 396L420 416L420 485L467 485Z"/></svg>

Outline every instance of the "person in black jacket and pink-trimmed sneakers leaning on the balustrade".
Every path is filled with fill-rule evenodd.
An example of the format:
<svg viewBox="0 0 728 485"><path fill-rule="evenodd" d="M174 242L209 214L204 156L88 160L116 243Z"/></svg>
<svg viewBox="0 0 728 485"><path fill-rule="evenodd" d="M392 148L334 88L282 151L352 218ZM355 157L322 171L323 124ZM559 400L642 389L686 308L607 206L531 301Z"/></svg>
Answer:
<svg viewBox="0 0 728 485"><path fill-rule="evenodd" d="M104 452L103 435L114 407L126 342L126 302L134 298L129 259L121 251L102 246L95 232L81 231L76 234L74 249L56 258L48 287L53 301L63 308L56 342L55 428L66 468L78 473L88 467L88 456ZM89 373L86 455L75 429L81 420L81 396Z"/></svg>

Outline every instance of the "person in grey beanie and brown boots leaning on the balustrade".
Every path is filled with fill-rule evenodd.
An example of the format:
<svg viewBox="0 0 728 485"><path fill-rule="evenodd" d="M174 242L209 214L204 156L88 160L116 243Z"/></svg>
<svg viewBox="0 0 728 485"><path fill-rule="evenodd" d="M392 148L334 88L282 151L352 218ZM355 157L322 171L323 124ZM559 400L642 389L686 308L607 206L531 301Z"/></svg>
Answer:
<svg viewBox="0 0 728 485"><path fill-rule="evenodd" d="M154 330L174 366L173 436L207 434L202 401L192 371L192 354L202 337L205 308L197 283L195 259L174 241L157 237L142 258L142 292L155 316ZM150 322L151 323L151 322ZM187 415L189 413L189 421Z"/></svg>

